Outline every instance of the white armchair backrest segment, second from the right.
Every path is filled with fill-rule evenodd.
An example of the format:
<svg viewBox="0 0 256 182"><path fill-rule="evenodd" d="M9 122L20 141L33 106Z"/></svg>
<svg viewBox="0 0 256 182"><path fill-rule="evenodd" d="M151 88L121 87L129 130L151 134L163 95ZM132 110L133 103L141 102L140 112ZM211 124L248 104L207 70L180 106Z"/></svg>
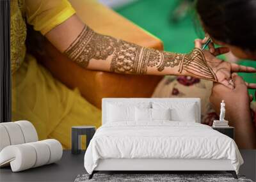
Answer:
<svg viewBox="0 0 256 182"><path fill-rule="evenodd" d="M1 123L10 137L11 145L24 144L24 135L20 126L14 122Z"/></svg>

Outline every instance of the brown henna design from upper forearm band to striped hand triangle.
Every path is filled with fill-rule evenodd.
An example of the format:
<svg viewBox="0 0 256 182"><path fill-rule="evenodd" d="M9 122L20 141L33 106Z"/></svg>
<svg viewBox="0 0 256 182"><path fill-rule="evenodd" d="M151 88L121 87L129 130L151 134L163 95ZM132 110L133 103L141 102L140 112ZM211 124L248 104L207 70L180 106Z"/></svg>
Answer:
<svg viewBox="0 0 256 182"><path fill-rule="evenodd" d="M115 73L147 74L150 67L162 72L179 66L179 73L186 71L196 77L217 80L200 49L193 49L189 54L162 52L97 34L88 26L84 26L64 53L85 68L91 59L105 60L112 56L110 71Z"/></svg>

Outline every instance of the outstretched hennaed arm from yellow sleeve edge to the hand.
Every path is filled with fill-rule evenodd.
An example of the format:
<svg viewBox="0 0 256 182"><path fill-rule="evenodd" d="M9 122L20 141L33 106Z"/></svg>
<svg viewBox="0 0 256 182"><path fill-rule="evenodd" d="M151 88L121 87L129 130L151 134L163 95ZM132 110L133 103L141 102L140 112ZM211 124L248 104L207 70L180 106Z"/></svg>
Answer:
<svg viewBox="0 0 256 182"><path fill-rule="evenodd" d="M214 82L230 77L220 69L221 66L226 69L227 64L221 65L219 59L219 62L214 62L216 58L210 53L205 56L200 49L193 49L189 54L179 54L140 47L95 33L76 15L45 36L72 61L91 70L128 74L191 75ZM227 69L230 73L230 67ZM221 70L221 77L218 70Z"/></svg>

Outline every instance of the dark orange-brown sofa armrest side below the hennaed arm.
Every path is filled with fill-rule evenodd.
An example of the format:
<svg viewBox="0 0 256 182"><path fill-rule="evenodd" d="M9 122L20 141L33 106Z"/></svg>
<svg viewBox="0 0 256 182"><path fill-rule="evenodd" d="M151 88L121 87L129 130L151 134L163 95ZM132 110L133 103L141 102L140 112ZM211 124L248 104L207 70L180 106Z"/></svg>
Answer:
<svg viewBox="0 0 256 182"><path fill-rule="evenodd" d="M88 102L101 108L102 98L148 98L163 78L154 75L123 75L86 70L63 56L45 40L44 56L37 57L52 75L71 89L78 88Z"/></svg>

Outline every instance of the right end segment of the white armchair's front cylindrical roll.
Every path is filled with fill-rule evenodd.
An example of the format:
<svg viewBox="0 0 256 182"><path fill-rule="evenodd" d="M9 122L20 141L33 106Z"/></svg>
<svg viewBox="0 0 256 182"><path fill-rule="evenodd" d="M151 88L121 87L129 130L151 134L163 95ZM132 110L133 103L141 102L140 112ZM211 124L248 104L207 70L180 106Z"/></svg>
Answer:
<svg viewBox="0 0 256 182"><path fill-rule="evenodd" d="M41 142L44 142L50 148L51 156L47 164L56 162L61 159L63 151L62 151L62 146L58 140L47 139L47 140L42 140Z"/></svg>

